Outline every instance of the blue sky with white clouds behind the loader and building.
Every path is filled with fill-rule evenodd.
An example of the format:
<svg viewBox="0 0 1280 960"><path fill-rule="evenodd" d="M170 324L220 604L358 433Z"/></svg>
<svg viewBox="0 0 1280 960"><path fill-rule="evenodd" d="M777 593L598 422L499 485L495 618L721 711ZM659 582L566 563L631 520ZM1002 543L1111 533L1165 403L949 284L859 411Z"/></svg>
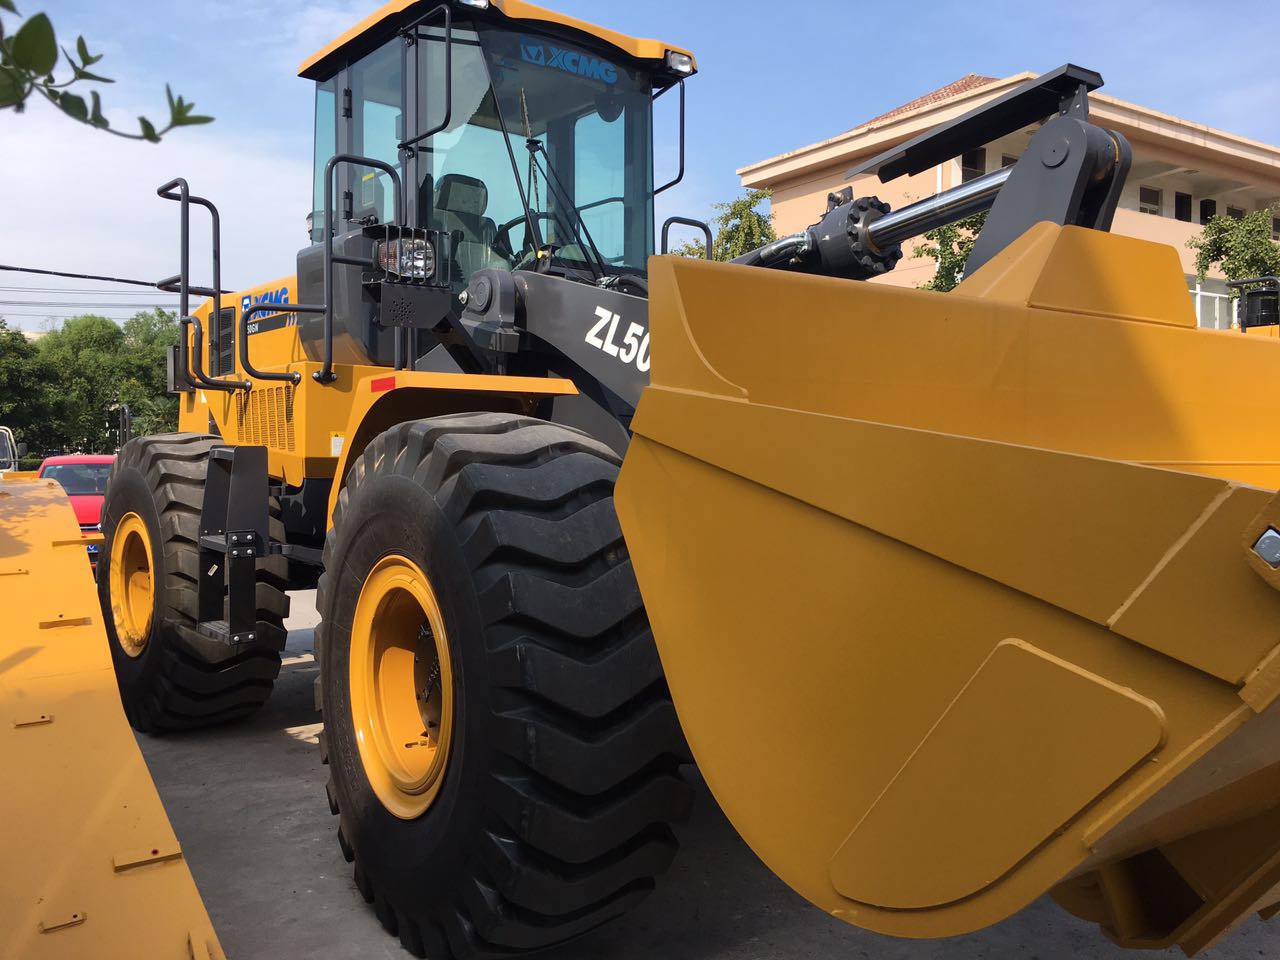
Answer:
<svg viewBox="0 0 1280 960"><path fill-rule="evenodd" d="M689 172L662 212L707 218L710 204L739 189L736 168L840 133L966 73L1002 77L1066 60L1100 70L1112 96L1280 142L1275 5L1263 0L547 3L696 52ZM310 205L312 104L311 84L296 69L378 5L19 0L23 13L45 9L64 42L83 33L106 55L99 69L118 81L104 90L113 119L161 114L166 81L218 119L151 146L77 128L42 105L24 116L0 114L0 196L9 224L0 229L0 262L146 279L175 273L177 210L155 198L154 188L184 174L223 207L229 285L291 273ZM659 177L675 168L675 118L660 115ZM68 246L64 232L73 225ZM202 256L198 246L195 256ZM31 283L13 276L0 275L0 285ZM38 326L38 316L14 315L31 312L40 307L0 306L12 321Z"/></svg>

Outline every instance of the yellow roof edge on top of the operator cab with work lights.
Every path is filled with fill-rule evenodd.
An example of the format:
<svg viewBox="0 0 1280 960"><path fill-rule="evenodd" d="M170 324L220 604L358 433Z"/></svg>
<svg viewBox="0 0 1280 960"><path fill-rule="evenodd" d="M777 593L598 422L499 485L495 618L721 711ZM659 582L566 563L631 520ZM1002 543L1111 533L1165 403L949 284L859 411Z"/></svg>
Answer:
<svg viewBox="0 0 1280 960"><path fill-rule="evenodd" d="M449 0L443 1L449 3ZM374 35L379 40L385 38L379 36L383 33L383 31L378 29L380 26L388 22L394 23L397 19L401 19L401 14L404 14L415 8L421 10L421 13L428 13L433 9L433 5L438 6L442 0L390 0L390 3L371 13L328 46L317 50L307 58L306 61L303 61L303 64L298 68L298 76L305 77L306 79L328 79L334 74L342 60L347 59L343 56L344 54L352 54L352 59L356 59L365 52L364 47L366 46L370 35ZM457 4L457 6L458 9L470 13L484 13L483 9L475 8L471 4ZM562 13L556 13L554 10L535 6L534 4L525 3L525 0L489 0L488 9L495 10L503 17L513 20L534 20L567 27L604 41L636 60L662 61L666 59L668 50L687 54L692 58L692 54L684 47L673 46L672 44L666 44L660 40L628 37L625 33L617 33L616 31L605 29L604 27L596 27L594 23L588 23L575 17L567 17ZM696 70L696 61L694 69Z"/></svg>

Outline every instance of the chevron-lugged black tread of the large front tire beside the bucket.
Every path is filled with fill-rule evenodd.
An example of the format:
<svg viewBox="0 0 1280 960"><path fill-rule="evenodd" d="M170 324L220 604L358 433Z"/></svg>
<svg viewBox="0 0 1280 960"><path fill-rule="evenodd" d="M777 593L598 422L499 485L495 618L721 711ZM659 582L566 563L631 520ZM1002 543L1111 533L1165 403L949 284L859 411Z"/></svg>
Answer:
<svg viewBox="0 0 1280 960"><path fill-rule="evenodd" d="M476 584L498 762L484 832L454 895L399 902L349 838L343 854L387 931L436 960L506 957L625 913L676 854L692 792L687 746L613 511L618 457L590 436L507 413L394 426L352 466L324 549L319 608L353 584L343 517L366 484L412 477L458 532ZM334 641L324 621L316 649Z"/></svg>

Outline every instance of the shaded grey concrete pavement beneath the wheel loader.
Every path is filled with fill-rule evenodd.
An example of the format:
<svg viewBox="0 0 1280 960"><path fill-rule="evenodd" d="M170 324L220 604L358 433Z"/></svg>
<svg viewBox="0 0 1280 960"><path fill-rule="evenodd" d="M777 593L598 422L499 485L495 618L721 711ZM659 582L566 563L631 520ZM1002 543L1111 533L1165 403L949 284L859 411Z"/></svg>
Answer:
<svg viewBox="0 0 1280 960"><path fill-rule="evenodd" d="M324 796L311 682L315 594L293 595L284 668L253 719L140 737L196 883L230 960L371 960L408 954L365 905ZM694 774L696 776L696 774ZM704 786L680 856L636 911L554 960L1121 960L1097 929L1042 901L950 941L899 941L827 916L755 858ZM1170 951L1170 957L1181 956ZM1210 960L1280 956L1280 922L1251 919Z"/></svg>

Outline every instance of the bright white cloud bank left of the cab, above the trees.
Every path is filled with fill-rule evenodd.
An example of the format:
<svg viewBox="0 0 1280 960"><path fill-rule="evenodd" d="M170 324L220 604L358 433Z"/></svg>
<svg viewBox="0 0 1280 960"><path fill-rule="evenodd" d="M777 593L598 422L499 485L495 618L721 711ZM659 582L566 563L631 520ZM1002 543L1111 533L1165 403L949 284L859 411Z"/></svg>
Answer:
<svg viewBox="0 0 1280 960"><path fill-rule="evenodd" d="M156 187L174 177L184 177L193 193L219 207L224 288L292 274L307 242L308 150L287 155L273 138L255 141L224 123L175 131L160 145L127 141L46 104L6 116L3 132L0 262L145 280L175 274L178 205L156 196ZM207 284L209 218L193 207L191 224L193 280ZM13 273L0 274L0 283L86 285ZM28 329L38 325L23 321Z"/></svg>

